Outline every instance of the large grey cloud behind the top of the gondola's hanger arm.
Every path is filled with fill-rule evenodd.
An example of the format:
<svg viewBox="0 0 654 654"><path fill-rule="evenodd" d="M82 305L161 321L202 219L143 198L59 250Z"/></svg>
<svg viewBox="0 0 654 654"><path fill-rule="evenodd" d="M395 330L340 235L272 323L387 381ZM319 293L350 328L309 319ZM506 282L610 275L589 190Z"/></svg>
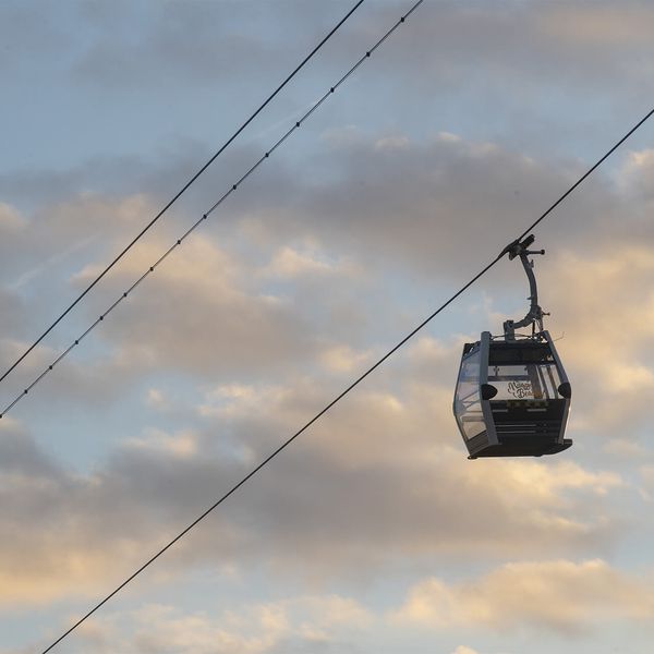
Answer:
<svg viewBox="0 0 654 654"><path fill-rule="evenodd" d="M308 233L386 269L459 277L489 262L583 171L447 135L388 141L361 137L318 156L315 168L336 179L310 180L286 211L271 204L245 220L269 239ZM610 184L592 180L540 228L538 244L609 231L619 206Z"/></svg>

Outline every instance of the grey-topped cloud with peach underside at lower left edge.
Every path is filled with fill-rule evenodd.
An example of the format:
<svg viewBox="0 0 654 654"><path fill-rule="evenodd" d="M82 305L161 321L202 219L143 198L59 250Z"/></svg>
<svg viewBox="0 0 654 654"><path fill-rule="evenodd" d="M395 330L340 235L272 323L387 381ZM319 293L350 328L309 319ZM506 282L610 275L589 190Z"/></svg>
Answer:
<svg viewBox="0 0 654 654"><path fill-rule="evenodd" d="M2 469L3 605L39 605L65 594L96 594L102 583L135 566L143 547L149 552L167 537L171 523L160 522L160 510L142 514L140 509L143 495L148 497L147 484L133 486L137 481L133 479L132 487L120 493L118 471L109 482L101 473L77 476L44 460L28 438L7 428L0 447L3 455L7 450L3 460L11 463ZM167 474L165 469L161 472L164 484ZM112 495L106 494L109 487ZM132 492L142 497L131 497ZM229 531L220 529L221 552Z"/></svg>

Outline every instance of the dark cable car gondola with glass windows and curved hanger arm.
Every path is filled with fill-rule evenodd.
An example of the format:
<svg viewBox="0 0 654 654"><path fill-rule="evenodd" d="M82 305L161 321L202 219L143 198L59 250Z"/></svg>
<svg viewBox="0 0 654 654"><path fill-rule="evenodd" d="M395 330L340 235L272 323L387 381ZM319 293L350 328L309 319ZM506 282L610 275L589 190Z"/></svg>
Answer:
<svg viewBox="0 0 654 654"><path fill-rule="evenodd" d="M566 371L549 332L543 328L533 262L534 242L508 245L510 259L520 257L530 283L530 311L520 322L506 320L502 336L484 331L465 343L455 391L455 417L469 459L542 457L572 445L564 438L572 395ZM516 329L531 326L531 335Z"/></svg>

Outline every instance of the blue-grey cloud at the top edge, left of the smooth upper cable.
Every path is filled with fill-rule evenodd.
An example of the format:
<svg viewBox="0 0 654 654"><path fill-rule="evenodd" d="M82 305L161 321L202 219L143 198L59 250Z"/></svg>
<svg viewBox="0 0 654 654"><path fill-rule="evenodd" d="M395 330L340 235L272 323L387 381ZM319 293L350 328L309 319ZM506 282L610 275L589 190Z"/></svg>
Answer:
<svg viewBox="0 0 654 654"><path fill-rule="evenodd" d="M145 13L128 3L110 12L86 9L82 15L96 38L74 72L94 86L160 88L175 80L177 86L228 81L238 88L234 66L241 78L266 80L269 75L262 73L275 61L281 81L299 52L317 41L346 7L332 2L306 11L298 2L150 2ZM138 37L126 27L132 22L141 26Z"/></svg>

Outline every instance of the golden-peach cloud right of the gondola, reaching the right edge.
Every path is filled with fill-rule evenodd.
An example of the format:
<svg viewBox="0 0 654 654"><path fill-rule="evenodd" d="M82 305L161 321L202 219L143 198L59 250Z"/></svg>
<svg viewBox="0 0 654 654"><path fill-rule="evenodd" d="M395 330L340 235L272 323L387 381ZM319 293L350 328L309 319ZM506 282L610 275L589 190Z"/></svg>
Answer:
<svg viewBox="0 0 654 654"><path fill-rule="evenodd" d="M565 251L541 276L550 328L565 332L557 346L574 389L573 421L584 429L616 438L649 420L641 397L654 387L652 279L644 243Z"/></svg>

